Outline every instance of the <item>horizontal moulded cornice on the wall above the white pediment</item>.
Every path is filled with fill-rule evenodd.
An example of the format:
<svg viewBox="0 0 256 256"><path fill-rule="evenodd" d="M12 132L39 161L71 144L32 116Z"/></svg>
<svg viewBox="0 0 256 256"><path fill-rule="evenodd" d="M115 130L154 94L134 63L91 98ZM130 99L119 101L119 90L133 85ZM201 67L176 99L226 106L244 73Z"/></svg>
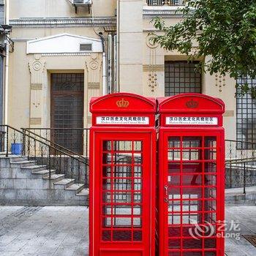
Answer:
<svg viewBox="0 0 256 256"><path fill-rule="evenodd" d="M105 18L18 18L10 20L13 27L63 27L63 26L103 26L116 27L115 17Z"/></svg>

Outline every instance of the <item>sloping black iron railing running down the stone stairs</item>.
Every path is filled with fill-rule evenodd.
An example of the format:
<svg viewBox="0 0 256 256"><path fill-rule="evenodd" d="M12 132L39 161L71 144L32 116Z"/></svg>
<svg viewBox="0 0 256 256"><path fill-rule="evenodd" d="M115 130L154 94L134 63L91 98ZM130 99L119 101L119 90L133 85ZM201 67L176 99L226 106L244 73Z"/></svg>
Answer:
<svg viewBox="0 0 256 256"><path fill-rule="evenodd" d="M84 183L89 187L89 160L86 157L26 129L20 131L8 125L1 125L0 136L1 149L7 157L10 151L20 157L28 157L29 160L36 160L37 165L45 165L49 178L52 170L55 170L57 174L74 178L75 182Z"/></svg>

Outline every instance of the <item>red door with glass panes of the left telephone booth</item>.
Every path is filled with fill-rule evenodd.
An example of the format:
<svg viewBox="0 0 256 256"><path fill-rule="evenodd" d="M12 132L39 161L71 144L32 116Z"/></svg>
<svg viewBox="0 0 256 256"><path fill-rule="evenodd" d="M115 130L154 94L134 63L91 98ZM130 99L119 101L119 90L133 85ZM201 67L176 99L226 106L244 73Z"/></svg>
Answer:
<svg viewBox="0 0 256 256"><path fill-rule="evenodd" d="M94 243L97 256L147 256L151 252L151 132L95 132L102 159L95 163ZM114 134L114 135L113 135ZM114 139L113 139L114 138ZM94 182L91 181L91 182ZM113 246L115 244L115 246Z"/></svg>

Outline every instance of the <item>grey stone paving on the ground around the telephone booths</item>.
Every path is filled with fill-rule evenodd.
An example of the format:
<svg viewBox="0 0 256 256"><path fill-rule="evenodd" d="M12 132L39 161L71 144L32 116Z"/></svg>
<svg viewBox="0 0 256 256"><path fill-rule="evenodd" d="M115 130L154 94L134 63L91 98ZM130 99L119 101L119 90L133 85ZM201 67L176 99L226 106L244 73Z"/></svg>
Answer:
<svg viewBox="0 0 256 256"><path fill-rule="evenodd" d="M241 235L256 234L256 206L227 206L227 222L241 222ZM0 206L1 256L88 255L86 207ZM226 239L226 255L255 256L244 238Z"/></svg>

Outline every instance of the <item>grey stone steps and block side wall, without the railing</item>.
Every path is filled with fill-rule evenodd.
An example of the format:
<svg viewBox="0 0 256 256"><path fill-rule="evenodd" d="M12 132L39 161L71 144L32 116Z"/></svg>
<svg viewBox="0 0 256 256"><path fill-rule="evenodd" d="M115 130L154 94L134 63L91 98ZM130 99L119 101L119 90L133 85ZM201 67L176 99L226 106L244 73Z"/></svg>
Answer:
<svg viewBox="0 0 256 256"><path fill-rule="evenodd" d="M15 206L87 206L89 190L75 179L47 170L27 157L0 153L0 204Z"/></svg>

